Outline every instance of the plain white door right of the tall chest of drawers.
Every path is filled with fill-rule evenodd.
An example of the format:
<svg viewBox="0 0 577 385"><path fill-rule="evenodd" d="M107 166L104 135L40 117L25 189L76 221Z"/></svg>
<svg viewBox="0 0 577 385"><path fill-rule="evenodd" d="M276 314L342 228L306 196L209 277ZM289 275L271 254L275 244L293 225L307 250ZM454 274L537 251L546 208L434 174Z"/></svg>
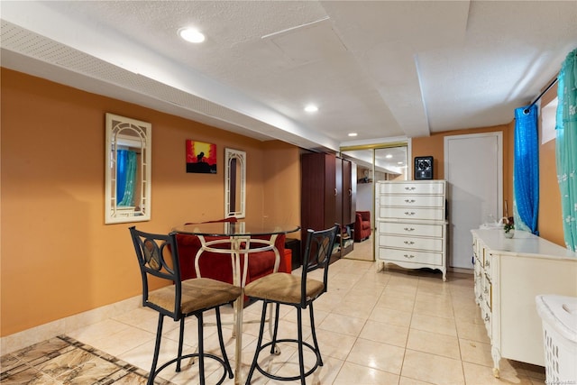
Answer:
<svg viewBox="0 0 577 385"><path fill-rule="evenodd" d="M450 267L473 268L471 230L479 228L490 217L499 219L501 216L502 174L502 133L445 136Z"/></svg>

